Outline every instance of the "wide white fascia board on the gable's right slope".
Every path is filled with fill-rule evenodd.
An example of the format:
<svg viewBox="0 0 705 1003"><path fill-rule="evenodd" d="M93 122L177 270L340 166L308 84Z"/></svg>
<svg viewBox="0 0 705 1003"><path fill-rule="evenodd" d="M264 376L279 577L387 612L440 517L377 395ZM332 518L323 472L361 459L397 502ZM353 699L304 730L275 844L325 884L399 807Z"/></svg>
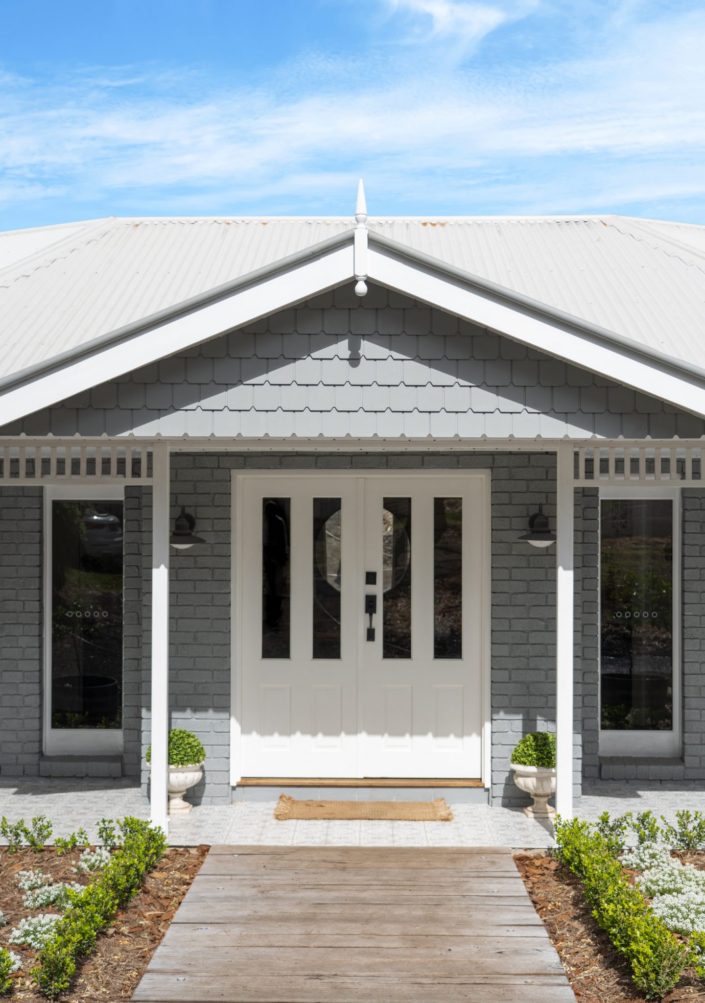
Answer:
<svg viewBox="0 0 705 1003"><path fill-rule="evenodd" d="M440 264L434 269L404 261L370 242L367 274L373 282L705 417L705 386L694 378L681 376L638 351L630 352L625 345L591 337L580 331L578 320L572 326L542 317L538 310L511 302L508 296L502 299L441 269Z"/></svg>

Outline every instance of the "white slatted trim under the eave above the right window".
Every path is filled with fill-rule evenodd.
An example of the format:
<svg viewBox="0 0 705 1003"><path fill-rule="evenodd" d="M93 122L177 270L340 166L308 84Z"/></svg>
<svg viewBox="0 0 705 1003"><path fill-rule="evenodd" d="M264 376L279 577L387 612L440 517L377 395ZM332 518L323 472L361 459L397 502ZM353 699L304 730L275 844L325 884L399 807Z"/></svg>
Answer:
<svg viewBox="0 0 705 1003"><path fill-rule="evenodd" d="M600 484L705 486L705 446L680 442L588 445L575 450L576 487Z"/></svg>

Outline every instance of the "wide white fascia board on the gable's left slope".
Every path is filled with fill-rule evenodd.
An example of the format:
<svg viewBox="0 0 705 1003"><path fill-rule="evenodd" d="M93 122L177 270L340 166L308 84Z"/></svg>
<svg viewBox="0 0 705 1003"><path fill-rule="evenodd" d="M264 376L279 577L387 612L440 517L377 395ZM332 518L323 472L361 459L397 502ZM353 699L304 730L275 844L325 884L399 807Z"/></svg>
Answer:
<svg viewBox="0 0 705 1003"><path fill-rule="evenodd" d="M251 324L353 279L352 240L215 302L106 343L0 394L0 426L167 355Z"/></svg>

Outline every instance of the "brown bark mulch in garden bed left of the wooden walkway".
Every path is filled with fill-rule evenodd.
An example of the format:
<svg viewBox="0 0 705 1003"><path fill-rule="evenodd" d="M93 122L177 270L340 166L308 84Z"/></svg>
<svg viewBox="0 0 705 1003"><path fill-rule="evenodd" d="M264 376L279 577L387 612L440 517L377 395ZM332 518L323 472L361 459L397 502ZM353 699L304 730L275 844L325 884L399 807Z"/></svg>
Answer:
<svg viewBox="0 0 705 1003"><path fill-rule="evenodd" d="M98 935L92 954L79 963L71 988L60 997L63 1003L116 1003L131 997L209 849L202 846L166 851L144 879L141 891L119 910L115 922ZM44 1000L29 974L35 954L27 948L8 944L10 930L25 916L56 912L48 908L28 913L22 908L25 893L17 888L17 872L39 870L50 874L54 881L77 881L87 885L87 876L74 875L71 871L79 857L79 850L59 856L52 848L38 854L22 849L13 855L2 849L0 911L9 922L0 927L0 947L10 947L25 963L23 970L13 976L14 992L9 995L9 1001L34 1000L38 1003Z"/></svg>

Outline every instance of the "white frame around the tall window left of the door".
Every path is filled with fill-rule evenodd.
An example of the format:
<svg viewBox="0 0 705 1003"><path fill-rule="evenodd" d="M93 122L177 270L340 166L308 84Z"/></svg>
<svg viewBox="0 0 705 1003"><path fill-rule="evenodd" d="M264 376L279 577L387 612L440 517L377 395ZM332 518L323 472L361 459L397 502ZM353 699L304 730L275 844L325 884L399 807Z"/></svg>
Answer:
<svg viewBox="0 0 705 1003"><path fill-rule="evenodd" d="M71 484L44 487L43 624L44 624L44 755L121 755L122 728L51 727L51 505L56 500L124 501L124 488L114 484Z"/></svg>

